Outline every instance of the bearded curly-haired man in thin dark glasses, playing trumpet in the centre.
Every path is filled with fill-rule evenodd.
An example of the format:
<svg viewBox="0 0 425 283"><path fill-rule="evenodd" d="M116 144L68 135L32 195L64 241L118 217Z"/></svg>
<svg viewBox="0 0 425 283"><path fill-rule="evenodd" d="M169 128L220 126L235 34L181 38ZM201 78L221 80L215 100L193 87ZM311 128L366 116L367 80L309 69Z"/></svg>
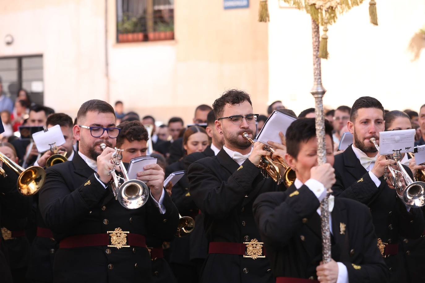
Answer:
<svg viewBox="0 0 425 283"><path fill-rule="evenodd" d="M264 144L251 142L255 121L249 95L229 90L214 104L215 128L224 137L216 156L194 162L188 169L190 195L205 215L204 230L208 256L201 282L274 282L270 264L262 249L252 203L263 192L285 190L258 169Z"/></svg>

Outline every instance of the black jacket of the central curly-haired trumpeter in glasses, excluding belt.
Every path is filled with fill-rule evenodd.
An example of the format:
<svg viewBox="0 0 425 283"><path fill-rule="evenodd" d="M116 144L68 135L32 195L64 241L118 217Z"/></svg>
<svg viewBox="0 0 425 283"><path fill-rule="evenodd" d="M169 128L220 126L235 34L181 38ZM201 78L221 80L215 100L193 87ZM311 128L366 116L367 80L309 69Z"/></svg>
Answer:
<svg viewBox="0 0 425 283"><path fill-rule="evenodd" d="M271 178L263 178L248 159L239 166L223 149L203 158L188 170L190 195L205 215L208 242L261 241L254 223L252 203L262 192L285 190ZM202 282L273 282L266 258L209 254Z"/></svg>

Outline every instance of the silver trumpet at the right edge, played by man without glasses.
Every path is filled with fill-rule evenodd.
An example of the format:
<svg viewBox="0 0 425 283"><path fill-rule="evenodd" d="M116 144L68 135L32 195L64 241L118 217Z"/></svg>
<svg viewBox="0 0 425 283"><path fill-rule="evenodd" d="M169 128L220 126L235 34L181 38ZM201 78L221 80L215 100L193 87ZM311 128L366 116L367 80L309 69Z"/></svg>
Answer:
<svg viewBox="0 0 425 283"><path fill-rule="evenodd" d="M373 143L376 149L379 151L379 146L376 143L376 139L371 138L370 142ZM395 151L393 155L387 155L387 159L396 161L396 164L394 165L397 169L394 169L391 166L387 166L385 167L387 173L384 175L388 177L394 188L399 192L397 195L402 199L405 205L408 207L423 207L425 205L425 183L422 181L414 182L410 178L409 174L406 173L406 170L400 162L400 158L401 156L399 151ZM402 186L402 179L404 179L406 184L405 188Z"/></svg>

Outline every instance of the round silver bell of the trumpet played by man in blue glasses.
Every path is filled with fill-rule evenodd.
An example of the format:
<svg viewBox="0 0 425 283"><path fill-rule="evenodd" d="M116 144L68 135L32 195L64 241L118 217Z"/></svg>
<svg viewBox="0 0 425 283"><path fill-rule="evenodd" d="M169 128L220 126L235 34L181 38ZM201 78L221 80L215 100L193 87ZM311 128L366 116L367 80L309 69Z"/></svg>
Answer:
<svg viewBox="0 0 425 283"><path fill-rule="evenodd" d="M128 209L137 209L146 204L149 188L140 180L125 181L116 191L119 203Z"/></svg>

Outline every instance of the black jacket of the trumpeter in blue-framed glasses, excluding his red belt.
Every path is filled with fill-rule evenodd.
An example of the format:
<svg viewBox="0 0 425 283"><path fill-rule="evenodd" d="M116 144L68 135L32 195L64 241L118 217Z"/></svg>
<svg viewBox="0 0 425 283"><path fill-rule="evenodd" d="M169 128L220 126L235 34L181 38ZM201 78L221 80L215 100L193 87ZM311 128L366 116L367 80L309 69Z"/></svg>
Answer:
<svg viewBox="0 0 425 283"><path fill-rule="evenodd" d="M152 197L139 209L126 209L106 189L77 154L72 161L46 170L40 192L40 212L54 238L122 231L171 239L178 212L167 193L162 215ZM54 282L148 282L150 256L144 247L88 246L59 248L54 260Z"/></svg>

